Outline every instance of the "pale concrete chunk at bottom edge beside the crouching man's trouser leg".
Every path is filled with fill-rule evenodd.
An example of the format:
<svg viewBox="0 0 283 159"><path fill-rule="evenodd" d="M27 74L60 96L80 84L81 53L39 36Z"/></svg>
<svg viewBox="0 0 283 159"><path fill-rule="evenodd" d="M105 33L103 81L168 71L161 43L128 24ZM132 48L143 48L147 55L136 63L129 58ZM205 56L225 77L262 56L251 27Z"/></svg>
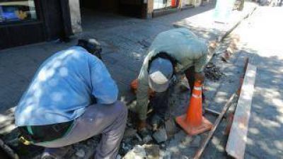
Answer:
<svg viewBox="0 0 283 159"><path fill-rule="evenodd" d="M123 159L145 159L146 151L143 146L136 145L134 148L129 151Z"/></svg>

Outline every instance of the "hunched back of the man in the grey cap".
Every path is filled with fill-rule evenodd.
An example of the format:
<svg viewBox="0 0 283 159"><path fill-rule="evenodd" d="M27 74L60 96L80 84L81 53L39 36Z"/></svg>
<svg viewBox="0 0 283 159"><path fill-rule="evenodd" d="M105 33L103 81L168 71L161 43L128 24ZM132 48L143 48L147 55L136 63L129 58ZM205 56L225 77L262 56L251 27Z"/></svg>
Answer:
<svg viewBox="0 0 283 159"><path fill-rule="evenodd" d="M207 56L207 44L185 28L159 33L149 47L149 59L159 52L166 52L178 61L178 70L192 66L196 60ZM204 59L204 58L203 58Z"/></svg>

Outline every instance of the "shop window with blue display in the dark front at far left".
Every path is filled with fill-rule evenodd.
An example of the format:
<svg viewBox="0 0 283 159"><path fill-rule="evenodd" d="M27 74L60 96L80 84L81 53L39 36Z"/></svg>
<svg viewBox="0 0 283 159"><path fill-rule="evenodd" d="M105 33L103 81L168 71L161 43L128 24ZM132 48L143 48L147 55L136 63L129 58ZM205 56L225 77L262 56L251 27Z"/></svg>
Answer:
<svg viewBox="0 0 283 159"><path fill-rule="evenodd" d="M34 0L0 0L0 24L37 20Z"/></svg>

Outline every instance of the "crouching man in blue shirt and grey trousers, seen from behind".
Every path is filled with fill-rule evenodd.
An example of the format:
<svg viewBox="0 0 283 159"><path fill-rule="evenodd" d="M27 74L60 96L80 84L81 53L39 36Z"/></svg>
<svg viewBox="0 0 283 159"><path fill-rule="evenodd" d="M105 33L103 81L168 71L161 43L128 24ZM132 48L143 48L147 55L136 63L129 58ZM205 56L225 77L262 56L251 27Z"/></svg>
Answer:
<svg viewBox="0 0 283 159"><path fill-rule="evenodd" d="M47 59L24 93L15 117L25 144L45 147L42 159L61 159L71 144L102 134L95 158L116 158L127 122L127 107L98 57L93 39Z"/></svg>

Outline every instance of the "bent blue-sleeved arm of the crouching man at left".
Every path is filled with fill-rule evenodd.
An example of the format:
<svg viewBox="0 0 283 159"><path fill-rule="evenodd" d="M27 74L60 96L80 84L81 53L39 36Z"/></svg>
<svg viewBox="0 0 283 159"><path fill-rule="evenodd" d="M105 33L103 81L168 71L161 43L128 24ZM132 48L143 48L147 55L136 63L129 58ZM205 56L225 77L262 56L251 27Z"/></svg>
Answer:
<svg viewBox="0 0 283 159"><path fill-rule="evenodd" d="M110 105L117 100L118 88L105 65L99 59L91 68L92 94L96 102Z"/></svg>

